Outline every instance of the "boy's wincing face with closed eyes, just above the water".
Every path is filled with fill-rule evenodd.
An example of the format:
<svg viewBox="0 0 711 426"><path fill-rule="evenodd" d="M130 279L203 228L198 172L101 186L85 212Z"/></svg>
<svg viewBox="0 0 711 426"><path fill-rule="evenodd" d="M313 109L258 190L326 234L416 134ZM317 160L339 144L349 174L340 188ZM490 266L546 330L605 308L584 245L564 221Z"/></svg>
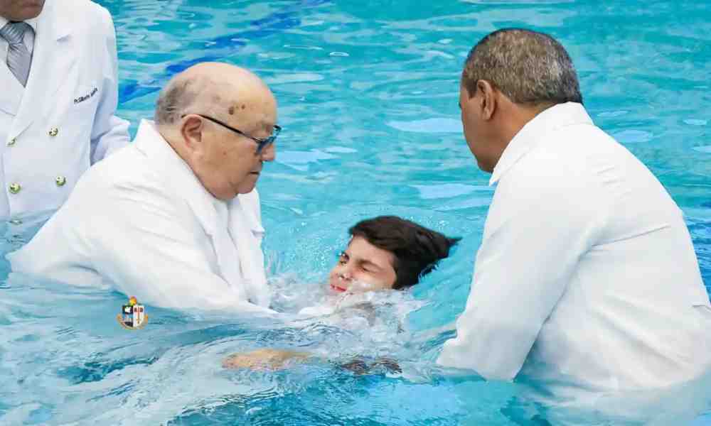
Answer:
<svg viewBox="0 0 711 426"><path fill-rule="evenodd" d="M354 236L346 251L338 257L338 263L328 275L328 284L336 292L364 293L389 290L395 284L395 256L370 244L360 236Z"/></svg>

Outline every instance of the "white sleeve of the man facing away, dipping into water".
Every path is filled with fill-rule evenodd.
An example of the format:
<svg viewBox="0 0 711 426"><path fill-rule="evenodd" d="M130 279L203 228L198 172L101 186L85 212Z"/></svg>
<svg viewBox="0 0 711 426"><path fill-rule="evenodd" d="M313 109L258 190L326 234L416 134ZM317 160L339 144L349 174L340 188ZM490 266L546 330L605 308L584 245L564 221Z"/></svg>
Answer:
<svg viewBox="0 0 711 426"><path fill-rule="evenodd" d="M550 185L557 178L545 170L506 178L488 212L456 338L437 360L501 380L523 366L600 220L594 195L580 194L576 178Z"/></svg>

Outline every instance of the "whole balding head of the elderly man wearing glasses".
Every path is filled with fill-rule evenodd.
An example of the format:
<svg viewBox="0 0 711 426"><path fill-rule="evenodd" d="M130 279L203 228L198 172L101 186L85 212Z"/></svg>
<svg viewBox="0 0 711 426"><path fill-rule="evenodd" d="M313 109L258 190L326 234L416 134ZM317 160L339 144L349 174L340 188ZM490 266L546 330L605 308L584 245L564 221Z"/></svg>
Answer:
<svg viewBox="0 0 711 426"><path fill-rule="evenodd" d="M272 134L277 102L260 77L234 65L205 62L173 77L159 95L155 121L220 200L254 189L262 162L274 159L274 146L257 152L255 139Z"/></svg>

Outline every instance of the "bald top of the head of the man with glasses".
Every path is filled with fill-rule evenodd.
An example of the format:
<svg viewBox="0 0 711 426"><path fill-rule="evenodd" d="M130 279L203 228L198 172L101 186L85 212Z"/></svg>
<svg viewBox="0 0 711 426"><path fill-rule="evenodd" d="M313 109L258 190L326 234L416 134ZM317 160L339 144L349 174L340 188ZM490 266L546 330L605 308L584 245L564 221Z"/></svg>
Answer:
<svg viewBox="0 0 711 426"><path fill-rule="evenodd" d="M173 77L161 91L155 121L159 126L175 124L183 114L225 119L264 99L274 102L267 84L254 73L235 65L203 62Z"/></svg>

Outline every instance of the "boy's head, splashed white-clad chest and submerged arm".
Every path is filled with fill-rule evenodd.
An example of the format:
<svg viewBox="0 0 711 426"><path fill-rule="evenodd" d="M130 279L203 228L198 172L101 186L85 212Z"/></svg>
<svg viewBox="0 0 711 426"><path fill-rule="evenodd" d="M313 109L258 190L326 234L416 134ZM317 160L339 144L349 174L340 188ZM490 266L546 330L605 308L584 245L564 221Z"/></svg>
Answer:
<svg viewBox="0 0 711 426"><path fill-rule="evenodd" d="M325 297L315 305L301 309L299 315L319 317L321 324L333 324L339 329L386 334L390 336L387 339L390 342L394 334L387 330L395 329L395 334L402 332L405 315L415 309L410 301L402 298L406 293L392 290L416 285L422 275L433 271L438 261L449 256L451 247L459 239L395 216L365 219L348 232L351 241L328 274ZM395 316L392 307L395 307ZM233 354L223 361L223 366L284 368L289 365L289 360L309 358L313 356L301 351L257 349ZM371 366L363 359L355 359L344 366L357 373L370 371L373 366L385 366L388 371L400 370L390 359L375 359Z"/></svg>

